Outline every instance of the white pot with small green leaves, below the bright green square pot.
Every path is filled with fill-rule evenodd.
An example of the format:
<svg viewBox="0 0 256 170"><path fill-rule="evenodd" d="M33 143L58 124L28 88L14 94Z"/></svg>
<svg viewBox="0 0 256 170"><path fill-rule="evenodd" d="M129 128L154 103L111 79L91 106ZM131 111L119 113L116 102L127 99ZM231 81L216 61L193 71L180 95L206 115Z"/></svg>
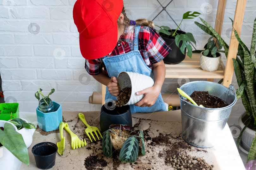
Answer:
<svg viewBox="0 0 256 170"><path fill-rule="evenodd" d="M22 138L28 148L32 144L32 134L34 133L34 129L36 129L35 125L28 123L26 119L22 118L14 118L9 120L9 122L13 123L17 127L18 133L22 135Z"/></svg>

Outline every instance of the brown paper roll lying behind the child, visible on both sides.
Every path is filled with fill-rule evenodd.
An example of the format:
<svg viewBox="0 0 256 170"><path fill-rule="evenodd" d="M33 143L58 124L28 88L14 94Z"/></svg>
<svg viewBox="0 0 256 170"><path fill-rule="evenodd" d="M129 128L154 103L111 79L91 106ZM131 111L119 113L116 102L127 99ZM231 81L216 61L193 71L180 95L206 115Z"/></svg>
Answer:
<svg viewBox="0 0 256 170"><path fill-rule="evenodd" d="M101 92L93 92L89 96L89 103L101 104ZM163 101L169 106L180 106L180 97L178 94L162 94Z"/></svg>

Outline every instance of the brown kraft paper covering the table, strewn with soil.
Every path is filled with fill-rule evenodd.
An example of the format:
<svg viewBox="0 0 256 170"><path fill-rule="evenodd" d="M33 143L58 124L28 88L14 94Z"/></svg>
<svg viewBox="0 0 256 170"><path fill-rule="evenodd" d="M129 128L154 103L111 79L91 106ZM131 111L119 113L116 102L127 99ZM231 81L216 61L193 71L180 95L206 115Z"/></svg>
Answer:
<svg viewBox="0 0 256 170"><path fill-rule="evenodd" d="M71 148L71 138L69 133L64 130L65 136L65 150L64 156L60 156L58 153L56 155L55 166L52 169L86 169L84 165L84 160L90 155L98 155L99 158L103 158L107 162L106 167L100 167L102 169L174 169L170 166L165 165L165 155L159 157L159 153L164 153L163 151L168 149L166 146L156 145L149 146L151 142L148 140L145 142L145 151L146 155L143 156L139 153L135 163L118 163L118 167L113 167L113 158L108 158L102 154L101 141L99 141L96 136L96 142L93 140L93 143L88 139L85 134L86 126L78 118L78 113L83 113L85 119L91 126L96 126L100 129L100 112L68 112L63 111L63 119L69 124L69 127L72 132L74 132L79 139L86 139L87 145L78 149L73 150ZM141 118L141 119L140 119ZM132 125L136 123L138 127L135 130L149 130L149 135L151 138L154 138L163 134L171 134L172 136L181 136L181 114L180 110L175 111L162 111L154 113L135 113L132 114ZM179 140L183 140L182 137ZM45 132L37 131L33 136L33 143L28 148L30 165L22 164L22 169L38 169L35 164L34 156L31 152L31 148L40 142L50 141L55 144L60 141L59 130ZM232 135L229 131L228 125L224 128L221 134L219 134L216 139L216 145L212 148L196 148L192 147L191 150L187 151L187 154L191 156L198 156L205 159L209 165L214 164L214 170L243 170L244 165L239 156L238 150L236 149L235 142L232 138ZM150 161L149 161L150 160ZM115 163L116 165L116 163ZM95 167L97 169L97 167Z"/></svg>

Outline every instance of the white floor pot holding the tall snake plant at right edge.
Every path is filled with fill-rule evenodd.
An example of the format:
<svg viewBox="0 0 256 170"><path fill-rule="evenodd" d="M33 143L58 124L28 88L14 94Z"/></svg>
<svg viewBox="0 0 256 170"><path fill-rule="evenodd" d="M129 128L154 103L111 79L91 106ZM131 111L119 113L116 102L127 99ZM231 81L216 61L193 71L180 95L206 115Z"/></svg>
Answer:
<svg viewBox="0 0 256 170"><path fill-rule="evenodd" d="M246 113L242 114L239 119L238 119L238 123L240 126L240 129L242 131L242 129L245 127L244 123L242 122L242 118L246 115ZM241 145L242 147L248 152L250 150L251 144L253 142L253 138L255 136L255 131L250 129L249 127L247 127L243 134L242 134L242 139L241 139ZM243 150L242 150L243 151ZM246 153L246 152L244 152ZM248 154L248 153L246 153Z"/></svg>

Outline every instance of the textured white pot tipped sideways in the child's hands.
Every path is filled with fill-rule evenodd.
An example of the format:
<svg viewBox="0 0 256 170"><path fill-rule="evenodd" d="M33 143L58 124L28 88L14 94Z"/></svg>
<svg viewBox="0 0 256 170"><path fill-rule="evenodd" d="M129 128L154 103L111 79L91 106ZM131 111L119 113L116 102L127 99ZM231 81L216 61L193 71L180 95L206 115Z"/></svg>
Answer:
<svg viewBox="0 0 256 170"><path fill-rule="evenodd" d="M125 105L137 103L144 97L144 94L137 95L136 92L154 86L154 80L151 77L128 71L120 72L117 81L121 89L131 87L131 97Z"/></svg>

